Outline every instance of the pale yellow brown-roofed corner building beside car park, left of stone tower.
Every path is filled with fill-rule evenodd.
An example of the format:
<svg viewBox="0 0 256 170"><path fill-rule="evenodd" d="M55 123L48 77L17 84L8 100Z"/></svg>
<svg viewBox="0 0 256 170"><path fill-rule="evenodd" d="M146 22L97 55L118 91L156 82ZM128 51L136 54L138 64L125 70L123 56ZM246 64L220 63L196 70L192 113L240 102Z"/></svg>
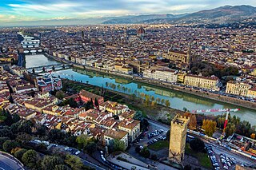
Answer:
<svg viewBox="0 0 256 170"><path fill-rule="evenodd" d="M128 132L128 139L133 142L140 132L140 121L129 119L121 121L118 128Z"/></svg>

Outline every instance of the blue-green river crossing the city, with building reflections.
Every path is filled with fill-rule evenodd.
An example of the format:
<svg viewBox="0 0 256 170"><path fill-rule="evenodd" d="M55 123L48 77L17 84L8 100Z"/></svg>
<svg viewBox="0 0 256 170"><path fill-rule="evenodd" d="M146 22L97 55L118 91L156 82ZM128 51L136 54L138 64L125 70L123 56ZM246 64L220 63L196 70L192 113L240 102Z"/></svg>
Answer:
<svg viewBox="0 0 256 170"><path fill-rule="evenodd" d="M30 55L26 56L26 68L36 67L39 65L53 65L58 64L57 61L52 61L44 55ZM241 118L241 120L249 121L251 125L256 125L256 111L252 109L242 108L236 105L230 105L223 102L213 101L204 97L194 96L188 93L182 93L180 91L172 89L163 89L154 85L147 85L145 83L132 81L127 78L115 77L110 75L104 75L103 73L95 73L92 71L81 70L81 69L66 69L60 70L53 73L54 76L67 78L74 81L88 82L91 85L98 85L100 87L110 88L110 84L116 85L115 91L122 93L145 93L154 98L160 98L170 101L170 107L174 109L183 108L194 110L194 109L235 109L240 108L241 110L236 113L230 113ZM118 88L119 87L119 88ZM128 90L124 91L122 88ZM206 113L206 114L222 114L222 113Z"/></svg>

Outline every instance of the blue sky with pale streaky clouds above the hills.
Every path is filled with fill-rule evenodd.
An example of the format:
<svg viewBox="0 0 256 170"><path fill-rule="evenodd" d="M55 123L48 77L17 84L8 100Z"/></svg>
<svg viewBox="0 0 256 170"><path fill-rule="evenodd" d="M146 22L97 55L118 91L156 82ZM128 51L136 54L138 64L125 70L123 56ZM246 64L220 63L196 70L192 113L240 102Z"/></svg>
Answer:
<svg viewBox="0 0 256 170"><path fill-rule="evenodd" d="M183 14L256 0L0 0L0 23L133 14Z"/></svg>

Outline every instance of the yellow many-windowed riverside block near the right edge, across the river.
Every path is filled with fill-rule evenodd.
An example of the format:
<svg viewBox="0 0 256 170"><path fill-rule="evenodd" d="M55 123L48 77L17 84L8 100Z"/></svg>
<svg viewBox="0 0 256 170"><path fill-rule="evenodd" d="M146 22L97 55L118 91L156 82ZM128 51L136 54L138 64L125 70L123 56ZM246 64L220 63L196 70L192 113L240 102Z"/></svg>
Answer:
<svg viewBox="0 0 256 170"><path fill-rule="evenodd" d="M226 93L246 97L251 85L242 82L229 81L226 84Z"/></svg>

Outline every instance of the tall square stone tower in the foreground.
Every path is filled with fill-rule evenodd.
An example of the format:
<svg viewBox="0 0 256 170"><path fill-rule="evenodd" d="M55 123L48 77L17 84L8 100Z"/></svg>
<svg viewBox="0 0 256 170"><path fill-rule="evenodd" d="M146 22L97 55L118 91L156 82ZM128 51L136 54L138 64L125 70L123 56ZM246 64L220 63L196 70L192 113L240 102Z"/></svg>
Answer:
<svg viewBox="0 0 256 170"><path fill-rule="evenodd" d="M176 115L170 123L169 158L181 162L186 147L186 129L190 121L188 117Z"/></svg>

